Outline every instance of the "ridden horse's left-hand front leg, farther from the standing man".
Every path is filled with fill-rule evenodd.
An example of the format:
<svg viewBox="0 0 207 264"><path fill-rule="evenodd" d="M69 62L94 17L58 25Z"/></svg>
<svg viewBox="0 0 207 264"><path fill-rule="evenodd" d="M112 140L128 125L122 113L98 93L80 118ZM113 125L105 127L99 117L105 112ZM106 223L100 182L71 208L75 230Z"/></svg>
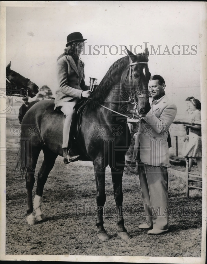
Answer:
<svg viewBox="0 0 207 264"><path fill-rule="evenodd" d="M109 236L103 225L103 207L106 201L105 194L105 168L94 164L95 180L96 180L96 203L98 215L96 217L96 226L98 228L98 238L102 241L109 239Z"/></svg>

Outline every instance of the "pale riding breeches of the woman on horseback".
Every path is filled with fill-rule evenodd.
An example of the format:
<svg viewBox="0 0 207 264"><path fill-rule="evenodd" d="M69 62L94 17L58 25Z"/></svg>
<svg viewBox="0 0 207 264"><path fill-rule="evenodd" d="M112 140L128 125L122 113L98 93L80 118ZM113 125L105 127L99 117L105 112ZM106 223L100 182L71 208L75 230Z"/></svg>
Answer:
<svg viewBox="0 0 207 264"><path fill-rule="evenodd" d="M61 102L57 106L60 107L60 110L65 115L66 119L63 125L63 148L68 147L70 126L72 123L72 117L74 113L74 107L77 103L77 100Z"/></svg>

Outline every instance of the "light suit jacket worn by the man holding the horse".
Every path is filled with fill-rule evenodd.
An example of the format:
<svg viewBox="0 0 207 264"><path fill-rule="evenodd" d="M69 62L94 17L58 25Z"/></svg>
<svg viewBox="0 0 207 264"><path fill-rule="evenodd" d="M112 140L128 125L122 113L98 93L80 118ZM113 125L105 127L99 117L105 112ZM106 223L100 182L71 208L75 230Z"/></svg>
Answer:
<svg viewBox="0 0 207 264"><path fill-rule="evenodd" d="M152 166L169 167L168 131L175 119L177 107L163 96L153 102L151 110L139 123L135 138L134 160L138 149L142 163Z"/></svg>

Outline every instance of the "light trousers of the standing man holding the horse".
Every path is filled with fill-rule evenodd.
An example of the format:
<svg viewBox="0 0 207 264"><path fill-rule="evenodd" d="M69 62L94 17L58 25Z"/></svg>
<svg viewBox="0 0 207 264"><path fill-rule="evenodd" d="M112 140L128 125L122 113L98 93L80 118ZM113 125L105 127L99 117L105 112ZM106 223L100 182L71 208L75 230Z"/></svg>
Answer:
<svg viewBox="0 0 207 264"><path fill-rule="evenodd" d="M147 224L153 229L168 229L167 167L138 161L138 173Z"/></svg>

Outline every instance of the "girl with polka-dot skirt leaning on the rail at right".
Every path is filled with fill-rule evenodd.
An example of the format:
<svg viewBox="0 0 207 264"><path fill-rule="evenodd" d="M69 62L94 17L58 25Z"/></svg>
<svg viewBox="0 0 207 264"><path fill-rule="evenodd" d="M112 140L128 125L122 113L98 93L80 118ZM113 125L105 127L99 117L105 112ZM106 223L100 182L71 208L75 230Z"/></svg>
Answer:
<svg viewBox="0 0 207 264"><path fill-rule="evenodd" d="M188 157L201 157L202 145L201 145L201 103L198 99L192 97L190 99L190 109L192 114L190 115L190 122L198 125L186 125L189 129L188 144L184 153L184 156ZM196 158L196 162L199 171L202 171L202 160ZM192 159L189 160L189 171L191 170Z"/></svg>

